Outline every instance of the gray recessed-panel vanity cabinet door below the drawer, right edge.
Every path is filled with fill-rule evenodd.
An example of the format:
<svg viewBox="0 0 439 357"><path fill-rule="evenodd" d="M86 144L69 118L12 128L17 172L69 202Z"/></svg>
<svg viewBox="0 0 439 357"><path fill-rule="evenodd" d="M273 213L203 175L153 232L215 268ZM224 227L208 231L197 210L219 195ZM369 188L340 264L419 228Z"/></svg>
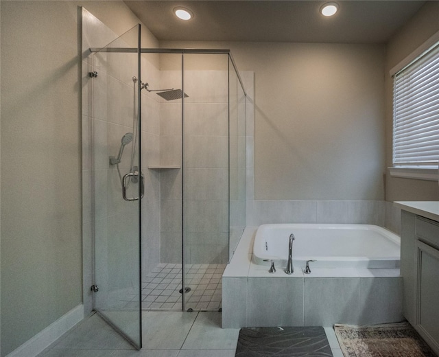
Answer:
<svg viewBox="0 0 439 357"><path fill-rule="evenodd" d="M439 351L439 251L418 241L417 327Z"/></svg>

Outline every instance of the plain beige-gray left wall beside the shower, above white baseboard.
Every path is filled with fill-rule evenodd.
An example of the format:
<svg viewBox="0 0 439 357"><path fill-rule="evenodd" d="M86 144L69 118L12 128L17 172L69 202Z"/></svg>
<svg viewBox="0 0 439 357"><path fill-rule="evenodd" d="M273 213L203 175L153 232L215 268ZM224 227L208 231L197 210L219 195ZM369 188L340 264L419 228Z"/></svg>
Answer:
<svg viewBox="0 0 439 357"><path fill-rule="evenodd" d="M78 5L139 23L122 1L0 2L1 356L82 303Z"/></svg>

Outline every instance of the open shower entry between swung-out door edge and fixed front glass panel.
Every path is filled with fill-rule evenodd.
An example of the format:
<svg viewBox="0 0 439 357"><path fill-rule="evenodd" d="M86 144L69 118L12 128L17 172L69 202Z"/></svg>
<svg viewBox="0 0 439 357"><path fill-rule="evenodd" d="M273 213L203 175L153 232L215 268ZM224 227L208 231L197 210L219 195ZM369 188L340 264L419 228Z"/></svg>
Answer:
<svg viewBox="0 0 439 357"><path fill-rule="evenodd" d="M142 54L142 306L182 310L181 54ZM174 89L165 91L164 89ZM148 169L145 169L148 168Z"/></svg>

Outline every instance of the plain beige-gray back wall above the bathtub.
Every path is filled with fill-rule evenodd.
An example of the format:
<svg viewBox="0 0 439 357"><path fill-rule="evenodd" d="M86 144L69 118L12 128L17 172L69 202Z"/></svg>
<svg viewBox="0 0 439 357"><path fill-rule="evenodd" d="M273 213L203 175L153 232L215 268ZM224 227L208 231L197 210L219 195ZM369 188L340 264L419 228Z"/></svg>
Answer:
<svg viewBox="0 0 439 357"><path fill-rule="evenodd" d="M161 46L230 48L254 71L255 200L383 200L384 45Z"/></svg>

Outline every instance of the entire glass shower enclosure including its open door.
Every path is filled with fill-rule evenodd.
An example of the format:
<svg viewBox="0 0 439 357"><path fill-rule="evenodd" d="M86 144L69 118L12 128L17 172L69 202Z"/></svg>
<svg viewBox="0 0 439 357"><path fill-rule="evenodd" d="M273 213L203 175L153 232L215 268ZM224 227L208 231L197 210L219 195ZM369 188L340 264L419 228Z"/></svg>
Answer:
<svg viewBox="0 0 439 357"><path fill-rule="evenodd" d="M141 347L142 310L219 310L244 231L246 93L228 50L90 49L94 308Z"/></svg>

